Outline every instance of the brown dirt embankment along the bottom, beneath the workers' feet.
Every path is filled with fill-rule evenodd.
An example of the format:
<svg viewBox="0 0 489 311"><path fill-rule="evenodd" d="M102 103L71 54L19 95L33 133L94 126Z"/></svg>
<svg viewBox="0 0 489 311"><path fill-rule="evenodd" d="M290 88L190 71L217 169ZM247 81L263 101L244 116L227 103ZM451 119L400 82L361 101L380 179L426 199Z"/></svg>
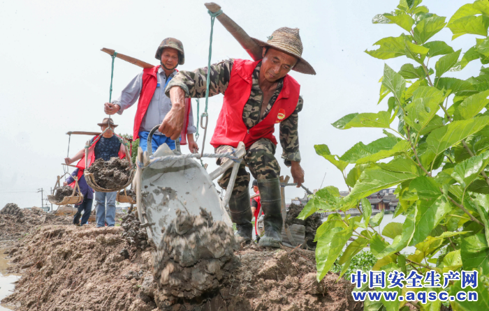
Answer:
<svg viewBox="0 0 489 311"><path fill-rule="evenodd" d="M207 227L204 231L212 236L219 236L219 229L226 229L210 223L205 215L200 215L197 222L200 223L194 222L194 225ZM138 220L133 215L124 218L122 227L41 227L36 234L27 236L10 249L12 269L22 272L23 276L15 292L3 302L17 305L19 310L50 311L363 310L363 304L355 303L351 298L352 286L346 280L336 283L337 275L330 274L316 282L312 251L251 246L235 251L234 255L219 257L211 255L212 251L207 253L208 248L223 248L226 253L229 246L232 247L231 241L227 244L214 241L217 244L206 245L205 250L200 248L199 241L206 238L205 234L196 234L186 223L183 221L180 227L166 229L170 232L167 237L173 236L176 240L175 243L167 241L166 257L156 257L160 261L154 261L154 245L145 241L147 237L138 229ZM175 234L177 231L180 233ZM197 258L191 256L194 248L189 248L189 253L178 252L189 257L175 259L171 255L175 254L171 248L181 247L178 244L182 239L198 246L201 253L197 263L187 261ZM217 264L211 257L222 260L219 259ZM173 281L163 284L161 279L158 285L154 278L154 262L162 264L169 272L166 274L168 278L163 280L178 276L173 280L179 281L180 285ZM207 274L195 275L203 272ZM219 278L219 273L226 277ZM156 274L156 277L162 275ZM200 278L202 276L205 278ZM195 278L195 282L187 294L193 292L194 298L186 299L176 293L171 299L172 291L178 287L184 292L182 286L189 285L185 280L191 278ZM212 286L207 287L209 280ZM198 282L205 287L200 292L196 291Z"/></svg>

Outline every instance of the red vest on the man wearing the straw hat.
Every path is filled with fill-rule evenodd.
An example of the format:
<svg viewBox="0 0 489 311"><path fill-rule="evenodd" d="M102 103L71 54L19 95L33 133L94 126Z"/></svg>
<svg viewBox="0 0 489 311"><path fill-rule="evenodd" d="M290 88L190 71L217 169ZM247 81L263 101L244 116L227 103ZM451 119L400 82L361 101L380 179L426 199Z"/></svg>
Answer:
<svg viewBox="0 0 489 311"><path fill-rule="evenodd" d="M261 138L270 139L277 144L273 132L275 123L280 123L293 114L299 100L300 85L293 77L284 77L284 86L272 109L256 126L248 130L243 122L242 114L251 93L251 75L260 61L235 59L231 70L229 86L224 93L224 103L217 119L217 126L210 144L217 148L221 145L238 147L244 142L248 149Z"/></svg>

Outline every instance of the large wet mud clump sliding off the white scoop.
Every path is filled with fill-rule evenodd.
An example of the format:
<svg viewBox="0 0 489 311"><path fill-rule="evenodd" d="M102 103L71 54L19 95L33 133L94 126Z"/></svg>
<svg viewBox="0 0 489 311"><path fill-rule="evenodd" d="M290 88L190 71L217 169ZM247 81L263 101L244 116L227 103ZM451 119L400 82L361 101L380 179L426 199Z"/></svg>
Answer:
<svg viewBox="0 0 489 311"><path fill-rule="evenodd" d="M238 267L234 255L238 248L233 229L224 222L214 222L205 209L200 208L200 215L177 210L154 255L158 305L200 305L219 291Z"/></svg>

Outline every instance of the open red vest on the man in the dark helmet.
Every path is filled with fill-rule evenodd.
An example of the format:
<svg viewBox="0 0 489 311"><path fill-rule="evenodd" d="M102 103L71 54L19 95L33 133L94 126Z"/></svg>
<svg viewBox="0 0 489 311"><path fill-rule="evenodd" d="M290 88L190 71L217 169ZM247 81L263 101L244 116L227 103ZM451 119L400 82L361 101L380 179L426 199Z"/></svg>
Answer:
<svg viewBox="0 0 489 311"><path fill-rule="evenodd" d="M147 107L153 98L154 91L156 91L156 85L158 84L156 74L158 73L159 68L160 66L154 66L153 68L143 69L143 86L141 87L141 93L139 94L136 116L134 116L133 140L139 138L139 128L141 126L141 122L143 122L143 118L147 112ZM189 126L190 104L190 98L185 98L186 120L184 120L184 127L180 133L182 136L182 141L180 144L187 144L187 127Z"/></svg>

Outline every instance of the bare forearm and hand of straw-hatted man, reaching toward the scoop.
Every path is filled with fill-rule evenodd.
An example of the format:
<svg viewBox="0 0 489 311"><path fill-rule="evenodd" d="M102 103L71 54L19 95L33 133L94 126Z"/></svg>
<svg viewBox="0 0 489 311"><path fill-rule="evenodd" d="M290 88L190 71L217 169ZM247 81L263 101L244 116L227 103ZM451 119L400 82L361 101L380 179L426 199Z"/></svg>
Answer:
<svg viewBox="0 0 489 311"><path fill-rule="evenodd" d="M170 139L177 139L182 132L183 122L185 119L185 92L180 86L173 86L170 89L170 100L172 107L170 112L166 114L163 123L158 130L161 134Z"/></svg>

